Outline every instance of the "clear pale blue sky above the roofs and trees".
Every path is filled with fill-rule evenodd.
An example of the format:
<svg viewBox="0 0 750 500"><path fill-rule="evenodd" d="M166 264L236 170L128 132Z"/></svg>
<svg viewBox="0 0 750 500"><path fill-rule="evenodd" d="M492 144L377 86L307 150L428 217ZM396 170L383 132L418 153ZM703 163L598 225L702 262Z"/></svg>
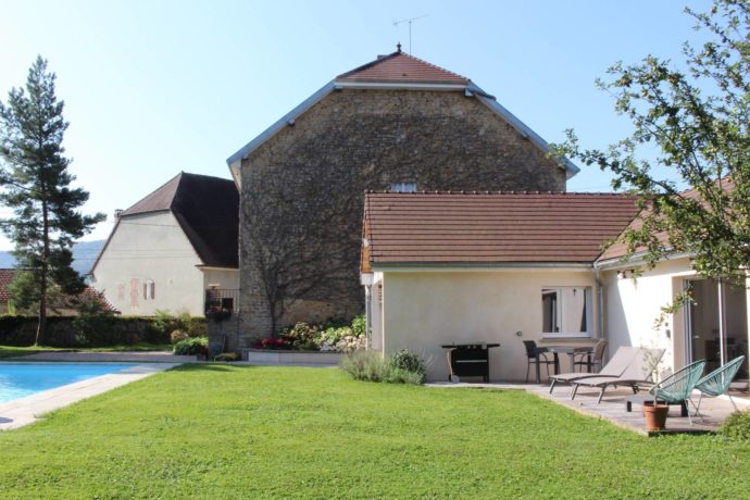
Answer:
<svg viewBox="0 0 750 500"><path fill-rule="evenodd" d="M395 50L472 78L550 142L603 147L628 132L595 87L615 61L679 59L689 4L708 1L0 0L0 99L37 54L58 75L65 146L86 207L109 216L179 171L226 159L336 75ZM609 190L583 168L568 190ZM0 215L8 215L0 208ZM10 247L0 239L0 249Z"/></svg>

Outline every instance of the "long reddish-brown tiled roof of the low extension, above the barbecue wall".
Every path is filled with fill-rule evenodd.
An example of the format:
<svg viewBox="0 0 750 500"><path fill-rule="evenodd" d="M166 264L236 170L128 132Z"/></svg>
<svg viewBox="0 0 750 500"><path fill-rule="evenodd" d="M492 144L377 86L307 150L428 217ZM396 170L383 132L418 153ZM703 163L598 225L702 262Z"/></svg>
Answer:
<svg viewBox="0 0 750 500"><path fill-rule="evenodd" d="M591 263L633 220L614 193L365 195L362 267L416 263Z"/></svg>

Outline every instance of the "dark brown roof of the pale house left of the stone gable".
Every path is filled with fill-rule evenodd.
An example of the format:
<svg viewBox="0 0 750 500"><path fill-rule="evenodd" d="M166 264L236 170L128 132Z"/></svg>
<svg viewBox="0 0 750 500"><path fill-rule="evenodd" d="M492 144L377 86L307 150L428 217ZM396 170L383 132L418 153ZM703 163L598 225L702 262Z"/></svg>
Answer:
<svg viewBox="0 0 750 500"><path fill-rule="evenodd" d="M238 266L239 193L233 180L180 172L122 216L163 210L172 211L204 265Z"/></svg>

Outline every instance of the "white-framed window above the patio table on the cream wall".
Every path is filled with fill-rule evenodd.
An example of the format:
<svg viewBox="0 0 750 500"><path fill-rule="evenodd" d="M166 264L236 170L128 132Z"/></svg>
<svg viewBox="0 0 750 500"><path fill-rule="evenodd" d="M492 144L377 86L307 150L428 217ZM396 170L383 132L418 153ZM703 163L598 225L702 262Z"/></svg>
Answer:
<svg viewBox="0 0 750 500"><path fill-rule="evenodd" d="M590 337L591 287L548 287L541 290L541 333L547 337Z"/></svg>

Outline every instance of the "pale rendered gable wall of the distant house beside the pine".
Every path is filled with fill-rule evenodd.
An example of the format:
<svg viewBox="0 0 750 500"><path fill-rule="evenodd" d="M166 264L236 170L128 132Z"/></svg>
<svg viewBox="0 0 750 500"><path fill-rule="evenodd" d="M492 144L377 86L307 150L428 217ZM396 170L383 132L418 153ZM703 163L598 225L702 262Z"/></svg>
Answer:
<svg viewBox="0 0 750 500"><path fill-rule="evenodd" d="M203 273L198 254L171 212L127 215L93 270L92 283L124 315L152 315L158 309L202 315ZM153 280L154 298L143 298ZM132 285L137 284L137 298ZM135 299L135 300L134 300Z"/></svg>

